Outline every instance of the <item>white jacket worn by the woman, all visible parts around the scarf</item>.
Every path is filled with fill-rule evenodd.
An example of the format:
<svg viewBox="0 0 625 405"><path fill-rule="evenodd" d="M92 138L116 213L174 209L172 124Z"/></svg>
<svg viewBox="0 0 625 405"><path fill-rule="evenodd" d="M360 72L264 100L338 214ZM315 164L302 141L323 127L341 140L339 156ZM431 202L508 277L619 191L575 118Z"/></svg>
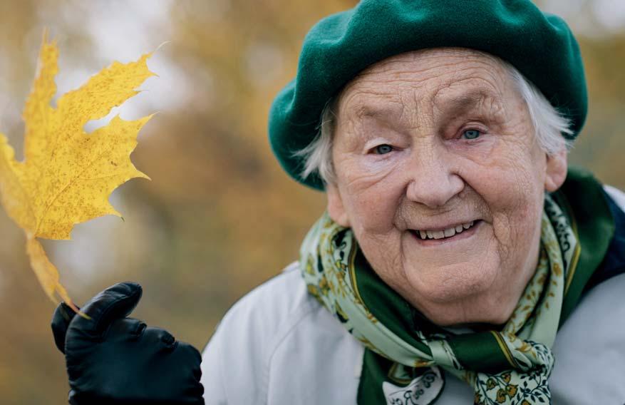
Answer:
<svg viewBox="0 0 625 405"><path fill-rule="evenodd" d="M625 210L625 194L608 192ZM229 310L202 355L207 405L356 404L363 347L308 292L294 262ZM557 334L553 403L625 404L625 274L594 287ZM472 404L445 373L436 405Z"/></svg>

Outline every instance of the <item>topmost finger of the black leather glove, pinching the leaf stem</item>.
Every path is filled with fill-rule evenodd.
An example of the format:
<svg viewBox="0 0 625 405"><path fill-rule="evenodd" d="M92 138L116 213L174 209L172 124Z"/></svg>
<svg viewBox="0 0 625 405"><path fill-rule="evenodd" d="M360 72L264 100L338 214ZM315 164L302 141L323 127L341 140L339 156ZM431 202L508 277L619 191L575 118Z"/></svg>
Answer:
<svg viewBox="0 0 625 405"><path fill-rule="evenodd" d="M139 303L143 290L135 282L120 282L93 297L83 307L91 319L74 317L68 329L88 337L101 337L115 319L128 316Z"/></svg>

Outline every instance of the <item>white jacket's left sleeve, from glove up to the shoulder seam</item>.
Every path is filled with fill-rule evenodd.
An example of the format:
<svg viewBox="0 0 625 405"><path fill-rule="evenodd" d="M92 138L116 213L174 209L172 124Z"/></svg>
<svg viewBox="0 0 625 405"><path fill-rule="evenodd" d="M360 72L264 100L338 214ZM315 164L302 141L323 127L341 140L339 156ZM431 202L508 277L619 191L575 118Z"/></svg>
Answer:
<svg viewBox="0 0 625 405"><path fill-rule="evenodd" d="M307 294L297 262L239 299L202 353L206 403L263 403L272 355L320 307Z"/></svg>

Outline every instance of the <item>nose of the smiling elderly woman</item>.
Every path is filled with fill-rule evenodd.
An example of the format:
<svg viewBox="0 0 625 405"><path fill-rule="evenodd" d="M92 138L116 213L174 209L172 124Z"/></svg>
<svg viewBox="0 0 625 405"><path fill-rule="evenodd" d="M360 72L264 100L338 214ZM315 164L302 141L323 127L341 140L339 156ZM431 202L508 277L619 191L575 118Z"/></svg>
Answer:
<svg viewBox="0 0 625 405"><path fill-rule="evenodd" d="M453 168L453 157L436 147L413 153L406 197L428 207L442 207L464 187L463 178Z"/></svg>

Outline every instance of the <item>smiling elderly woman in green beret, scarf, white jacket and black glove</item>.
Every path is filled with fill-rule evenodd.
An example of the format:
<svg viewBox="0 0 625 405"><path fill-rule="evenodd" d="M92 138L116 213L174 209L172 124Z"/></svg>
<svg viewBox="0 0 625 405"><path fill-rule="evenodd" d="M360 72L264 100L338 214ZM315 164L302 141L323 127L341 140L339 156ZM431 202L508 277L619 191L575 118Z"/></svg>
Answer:
<svg viewBox="0 0 625 405"><path fill-rule="evenodd" d="M219 324L203 400L623 404L625 195L567 167L586 112L576 41L530 1L320 21L269 138L328 209ZM124 318L139 297L57 311L73 404L202 403L197 352Z"/></svg>

